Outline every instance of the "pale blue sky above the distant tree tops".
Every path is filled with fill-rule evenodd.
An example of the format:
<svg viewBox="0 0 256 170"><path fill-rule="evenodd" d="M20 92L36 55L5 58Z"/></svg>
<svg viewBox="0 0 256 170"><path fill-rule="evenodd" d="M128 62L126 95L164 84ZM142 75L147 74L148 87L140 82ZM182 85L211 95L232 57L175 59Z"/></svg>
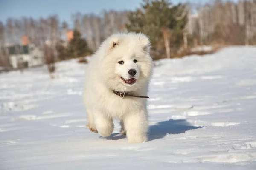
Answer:
<svg viewBox="0 0 256 170"><path fill-rule="evenodd" d="M208 0L172 0L178 2L204 3ZM47 17L58 14L61 21L71 23L71 14L100 14L103 9L134 10L141 0L0 0L0 21L8 17Z"/></svg>

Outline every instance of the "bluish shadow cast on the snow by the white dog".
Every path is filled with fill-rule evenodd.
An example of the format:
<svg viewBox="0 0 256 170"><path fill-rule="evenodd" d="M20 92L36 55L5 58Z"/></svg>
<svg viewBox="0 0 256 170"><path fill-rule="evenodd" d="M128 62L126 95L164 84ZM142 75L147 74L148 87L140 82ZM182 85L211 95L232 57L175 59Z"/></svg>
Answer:
<svg viewBox="0 0 256 170"><path fill-rule="evenodd" d="M198 129L198 128L202 128L202 127L201 126L195 127L191 125L189 122L187 122L186 120L170 119L168 121L158 122L156 125L149 126L148 141L161 139L168 134L180 134L180 133L185 133L188 130ZM108 136L105 139L119 140L124 138L126 138L125 135L120 135L119 133L113 133L111 134L111 136Z"/></svg>

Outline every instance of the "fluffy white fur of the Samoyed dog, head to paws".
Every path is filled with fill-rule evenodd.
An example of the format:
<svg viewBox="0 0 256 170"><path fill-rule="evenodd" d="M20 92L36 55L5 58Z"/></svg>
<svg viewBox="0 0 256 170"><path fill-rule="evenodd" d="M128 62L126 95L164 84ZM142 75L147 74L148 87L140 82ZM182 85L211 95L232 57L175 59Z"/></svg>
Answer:
<svg viewBox="0 0 256 170"><path fill-rule="evenodd" d="M148 113L146 99L113 93L129 92L146 96L152 73L150 41L144 34L117 33L108 37L93 54L88 64L84 104L87 110L87 127L101 136L113 132L113 119L120 119L122 134L129 143L147 141ZM137 60L134 63L134 59ZM119 61L124 64L119 64ZM133 85L126 84L120 77L130 79L130 69L135 69L137 79Z"/></svg>

